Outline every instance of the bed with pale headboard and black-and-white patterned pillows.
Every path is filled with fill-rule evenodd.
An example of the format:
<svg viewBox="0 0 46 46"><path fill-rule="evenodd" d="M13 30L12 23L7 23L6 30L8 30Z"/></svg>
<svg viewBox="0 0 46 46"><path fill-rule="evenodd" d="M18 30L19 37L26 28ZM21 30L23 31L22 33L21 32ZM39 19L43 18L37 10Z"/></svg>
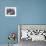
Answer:
<svg viewBox="0 0 46 46"><path fill-rule="evenodd" d="M34 43L46 42L46 25L40 24L19 24L18 40L20 46L31 46Z"/></svg>

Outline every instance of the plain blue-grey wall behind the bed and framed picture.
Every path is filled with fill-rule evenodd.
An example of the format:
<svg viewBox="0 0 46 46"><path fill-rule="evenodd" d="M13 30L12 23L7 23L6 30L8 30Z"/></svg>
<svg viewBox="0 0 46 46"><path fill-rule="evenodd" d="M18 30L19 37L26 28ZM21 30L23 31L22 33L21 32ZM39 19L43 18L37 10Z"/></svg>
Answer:
<svg viewBox="0 0 46 46"><path fill-rule="evenodd" d="M6 17L5 7L16 7L16 17ZM8 43L17 24L46 24L46 0L0 0L0 43ZM16 40L17 42L17 40Z"/></svg>

